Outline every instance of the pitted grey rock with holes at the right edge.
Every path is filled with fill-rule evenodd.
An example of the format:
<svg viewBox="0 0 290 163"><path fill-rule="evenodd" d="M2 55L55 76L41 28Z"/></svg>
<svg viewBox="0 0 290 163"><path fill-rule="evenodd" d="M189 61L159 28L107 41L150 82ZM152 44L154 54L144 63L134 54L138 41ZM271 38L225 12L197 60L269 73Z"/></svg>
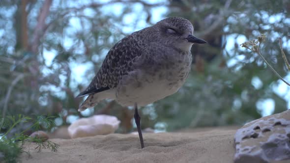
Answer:
<svg viewBox="0 0 290 163"><path fill-rule="evenodd" d="M234 163L290 159L290 110L245 124L237 130L234 142Z"/></svg>

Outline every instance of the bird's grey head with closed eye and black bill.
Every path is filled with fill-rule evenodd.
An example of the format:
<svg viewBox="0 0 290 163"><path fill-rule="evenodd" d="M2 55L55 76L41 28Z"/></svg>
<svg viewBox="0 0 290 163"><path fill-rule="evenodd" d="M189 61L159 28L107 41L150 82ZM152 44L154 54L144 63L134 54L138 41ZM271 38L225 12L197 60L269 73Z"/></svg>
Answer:
<svg viewBox="0 0 290 163"><path fill-rule="evenodd" d="M160 42L166 46L174 46L182 51L190 51L194 43L204 44L206 41L193 35L192 24L184 18L171 17L154 25L158 31Z"/></svg>

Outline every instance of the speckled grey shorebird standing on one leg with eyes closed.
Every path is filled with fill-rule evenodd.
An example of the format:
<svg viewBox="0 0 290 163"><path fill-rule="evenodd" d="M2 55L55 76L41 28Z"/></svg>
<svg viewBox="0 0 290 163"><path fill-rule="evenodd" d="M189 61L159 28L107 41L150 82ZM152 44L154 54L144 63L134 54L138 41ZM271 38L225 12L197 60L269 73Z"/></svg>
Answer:
<svg viewBox="0 0 290 163"><path fill-rule="evenodd" d="M88 96L78 110L92 108L104 99L134 107L144 148L138 107L172 95L183 85L191 69L192 45L207 43L193 32L189 20L169 17L118 41L87 89L76 97Z"/></svg>

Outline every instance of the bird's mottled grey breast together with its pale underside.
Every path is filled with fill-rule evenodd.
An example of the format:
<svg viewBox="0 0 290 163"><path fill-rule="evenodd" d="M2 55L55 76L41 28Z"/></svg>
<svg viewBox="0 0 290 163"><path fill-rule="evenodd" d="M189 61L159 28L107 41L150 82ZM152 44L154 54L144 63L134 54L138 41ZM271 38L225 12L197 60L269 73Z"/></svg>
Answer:
<svg viewBox="0 0 290 163"><path fill-rule="evenodd" d="M148 65L130 72L119 82L116 100L123 106L146 106L174 94L185 82L191 67L190 56L153 58Z"/></svg>

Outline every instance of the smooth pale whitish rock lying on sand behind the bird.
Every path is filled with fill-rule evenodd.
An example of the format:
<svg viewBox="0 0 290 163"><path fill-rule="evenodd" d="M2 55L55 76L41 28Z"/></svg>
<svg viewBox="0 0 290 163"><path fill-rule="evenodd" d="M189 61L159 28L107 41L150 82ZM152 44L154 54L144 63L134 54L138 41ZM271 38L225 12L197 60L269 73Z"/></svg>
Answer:
<svg viewBox="0 0 290 163"><path fill-rule="evenodd" d="M107 135L114 133L119 127L120 121L115 116L94 115L89 118L81 118L68 127L71 138Z"/></svg>

